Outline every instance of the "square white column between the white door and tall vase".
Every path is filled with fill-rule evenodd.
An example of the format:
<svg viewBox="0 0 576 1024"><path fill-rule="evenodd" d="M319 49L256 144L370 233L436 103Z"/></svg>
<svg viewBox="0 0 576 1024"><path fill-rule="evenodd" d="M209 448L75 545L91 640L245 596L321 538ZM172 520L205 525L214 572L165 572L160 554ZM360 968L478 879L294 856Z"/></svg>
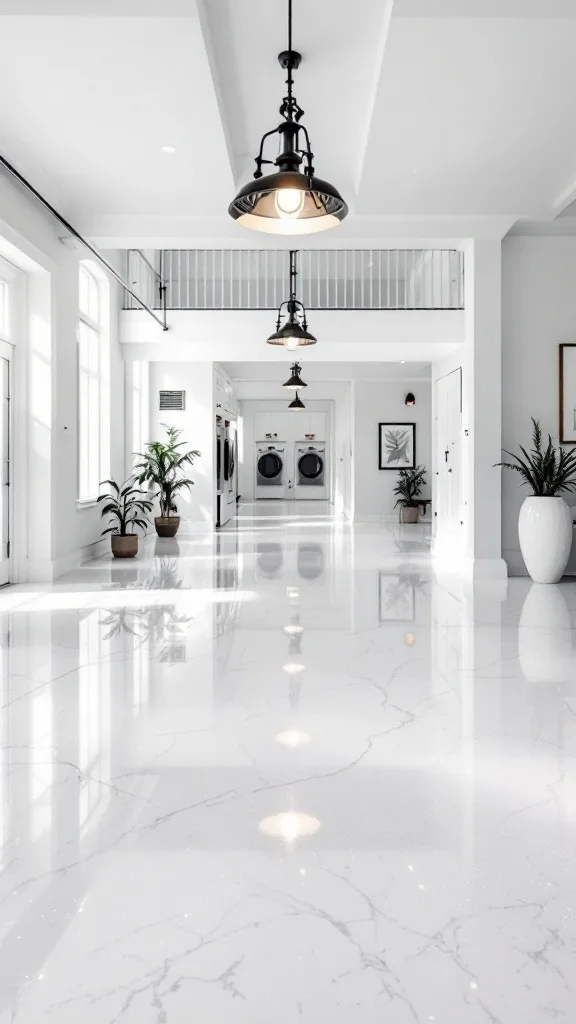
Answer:
<svg viewBox="0 0 576 1024"><path fill-rule="evenodd" d="M475 580L505 580L501 551L501 241L465 248L462 429L464 558ZM467 431L467 434L466 434Z"/></svg>

